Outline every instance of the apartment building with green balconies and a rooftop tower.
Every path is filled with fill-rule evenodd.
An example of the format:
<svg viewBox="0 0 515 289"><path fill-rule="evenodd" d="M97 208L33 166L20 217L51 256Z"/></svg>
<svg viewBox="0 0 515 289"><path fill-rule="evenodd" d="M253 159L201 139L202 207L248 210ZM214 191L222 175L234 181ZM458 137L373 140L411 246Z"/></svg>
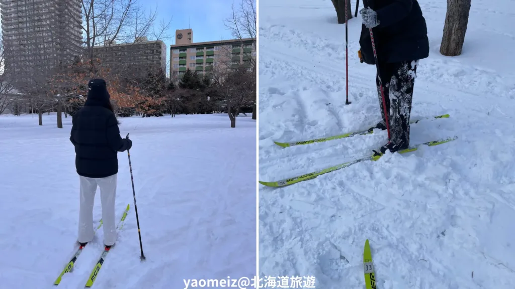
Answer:
<svg viewBox="0 0 515 289"><path fill-rule="evenodd" d="M180 76L187 68L198 74L209 73L219 64L242 64L255 59L255 39L193 42L193 30L176 30L175 45L170 45L170 76Z"/></svg>

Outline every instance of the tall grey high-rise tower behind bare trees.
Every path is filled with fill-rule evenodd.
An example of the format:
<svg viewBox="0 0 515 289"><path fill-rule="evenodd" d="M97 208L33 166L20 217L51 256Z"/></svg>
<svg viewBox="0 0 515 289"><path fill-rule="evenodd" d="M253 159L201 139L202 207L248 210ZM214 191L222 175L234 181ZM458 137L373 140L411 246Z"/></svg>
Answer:
<svg viewBox="0 0 515 289"><path fill-rule="evenodd" d="M0 0L5 64L32 80L80 55L81 0Z"/></svg>

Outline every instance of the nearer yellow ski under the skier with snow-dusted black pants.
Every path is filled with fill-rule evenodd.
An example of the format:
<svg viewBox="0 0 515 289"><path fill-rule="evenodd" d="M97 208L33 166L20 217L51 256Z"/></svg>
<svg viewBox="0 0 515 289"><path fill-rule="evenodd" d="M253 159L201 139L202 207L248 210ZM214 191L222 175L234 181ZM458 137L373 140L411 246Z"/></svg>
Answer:
<svg viewBox="0 0 515 289"><path fill-rule="evenodd" d="M411 147L411 148L408 148L408 149L405 149L405 150L402 150L402 151L398 151L398 153L404 154L404 153L413 152L413 151L418 150L418 148L420 148L421 146L425 146L425 145L426 146L430 146L430 147L438 146L438 145L441 145L442 143L446 143L446 142L455 140L457 138L458 137L455 136L455 137L447 138L447 139L444 139L444 140L435 140L435 141L429 141L429 142L420 143L419 145L416 145L414 147ZM323 169L323 170L320 170L320 171L316 171L316 172L312 172L312 173L308 173L308 174L304 174L304 175L300 175L300 176L296 176L296 177L292 177L292 178L278 180L277 182L263 182L263 181L260 180L259 183L262 184L262 185L268 186L268 187L284 187L284 186L289 186L289 185L293 185L293 184L302 182L304 180L315 178L315 177L317 177L319 175L322 175L322 174L325 174L325 173L329 173L329 172L333 172L333 171L336 171L336 170L339 170L339 169L347 168L349 166L357 164L358 162L362 162L362 161L365 161L365 160L378 160L381 156L382 156L382 154L381 155L366 156L366 157L363 157L363 158L355 159L353 161L344 162L344 164L340 164L340 165L337 165L337 166L334 166L334 167L331 167L331 168Z"/></svg>

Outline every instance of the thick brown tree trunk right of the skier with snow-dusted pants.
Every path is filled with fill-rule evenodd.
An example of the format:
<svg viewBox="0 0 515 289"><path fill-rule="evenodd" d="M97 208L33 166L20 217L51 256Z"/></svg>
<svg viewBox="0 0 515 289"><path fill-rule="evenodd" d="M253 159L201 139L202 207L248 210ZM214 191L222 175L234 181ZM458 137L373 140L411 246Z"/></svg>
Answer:
<svg viewBox="0 0 515 289"><path fill-rule="evenodd" d="M444 56L461 55L469 23L470 1L447 0L447 14L440 45L440 53Z"/></svg>

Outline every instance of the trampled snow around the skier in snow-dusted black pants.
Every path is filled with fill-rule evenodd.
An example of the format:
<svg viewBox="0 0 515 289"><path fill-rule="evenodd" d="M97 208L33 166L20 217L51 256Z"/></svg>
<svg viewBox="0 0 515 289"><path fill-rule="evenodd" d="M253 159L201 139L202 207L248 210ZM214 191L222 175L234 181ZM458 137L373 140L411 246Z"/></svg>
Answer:
<svg viewBox="0 0 515 289"><path fill-rule="evenodd" d="M353 3L352 11L354 12ZM317 288L364 288L370 240L378 288L515 288L515 2L472 1L463 53L438 52L447 1L419 1L431 53L421 60L411 143L284 188L259 185L262 276L314 275ZM361 4L362 5L362 4ZM331 0L260 0L259 179L281 180L370 155L386 132L282 149L380 120L375 66L357 58L361 16Z"/></svg>

